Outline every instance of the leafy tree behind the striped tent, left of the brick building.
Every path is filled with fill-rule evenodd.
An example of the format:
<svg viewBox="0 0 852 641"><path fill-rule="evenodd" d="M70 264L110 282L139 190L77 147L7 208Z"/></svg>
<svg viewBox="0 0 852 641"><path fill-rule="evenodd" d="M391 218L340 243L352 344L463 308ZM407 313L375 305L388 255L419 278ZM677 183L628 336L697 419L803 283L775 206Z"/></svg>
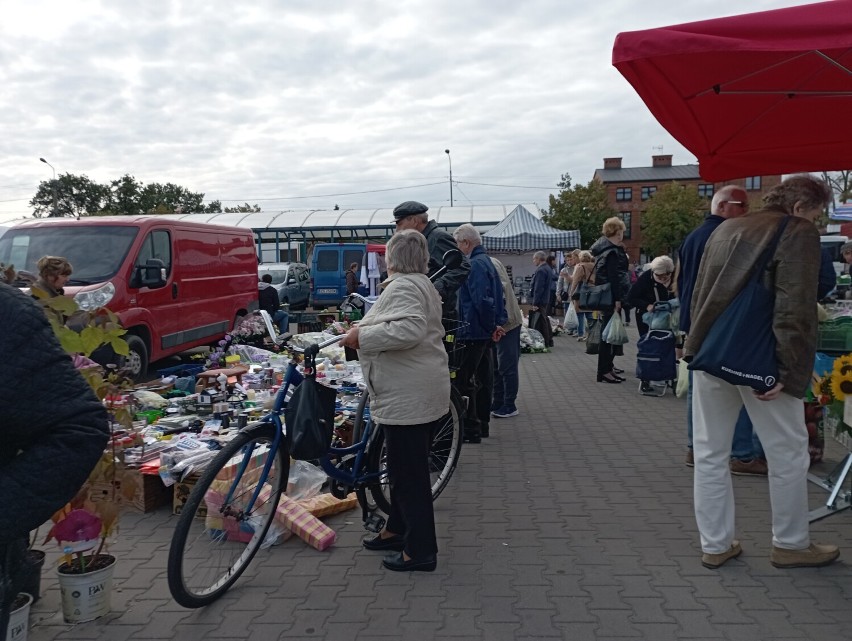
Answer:
<svg viewBox="0 0 852 641"><path fill-rule="evenodd" d="M603 222L618 214L609 204L606 187L594 178L572 187L569 174L562 174L557 186L561 191L550 195L550 209L542 219L551 227L579 230L580 246L590 247L601 235Z"/></svg>

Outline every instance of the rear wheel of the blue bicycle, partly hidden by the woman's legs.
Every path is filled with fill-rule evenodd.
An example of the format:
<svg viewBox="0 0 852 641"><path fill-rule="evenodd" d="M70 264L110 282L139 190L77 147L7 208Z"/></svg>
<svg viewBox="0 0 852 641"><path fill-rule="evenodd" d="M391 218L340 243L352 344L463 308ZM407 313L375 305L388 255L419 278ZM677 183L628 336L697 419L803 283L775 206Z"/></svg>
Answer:
<svg viewBox="0 0 852 641"><path fill-rule="evenodd" d="M367 394L361 399L356 418L356 431L359 431L358 420L363 416L363 410L369 402ZM450 482L459 461L462 445L462 419L464 402L455 390L450 390L450 407L447 414L437 422L432 432L432 444L429 448L429 475L432 482L432 500L440 496ZM370 488L375 505L385 514L390 511L390 482L387 475L387 450L385 448L384 432L376 430L367 454L366 468L368 471L380 471L379 481Z"/></svg>

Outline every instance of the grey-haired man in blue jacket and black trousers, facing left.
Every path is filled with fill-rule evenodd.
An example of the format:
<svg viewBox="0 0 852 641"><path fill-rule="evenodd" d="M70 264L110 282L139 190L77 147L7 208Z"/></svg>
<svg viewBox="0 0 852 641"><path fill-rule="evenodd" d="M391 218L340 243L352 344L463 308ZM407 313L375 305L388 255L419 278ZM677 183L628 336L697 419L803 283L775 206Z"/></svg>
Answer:
<svg viewBox="0 0 852 641"><path fill-rule="evenodd" d="M491 259L482 248L482 237L476 228L465 223L453 236L462 253L470 259L470 275L459 288L458 337L464 346L461 368L456 373L456 386L468 397L464 420L464 439L479 443L488 436L490 402L477 403L477 397L491 398L494 385L494 363L491 344L499 341L508 320L503 304L503 285ZM478 394L478 390L482 394ZM482 407L480 407L482 406Z"/></svg>

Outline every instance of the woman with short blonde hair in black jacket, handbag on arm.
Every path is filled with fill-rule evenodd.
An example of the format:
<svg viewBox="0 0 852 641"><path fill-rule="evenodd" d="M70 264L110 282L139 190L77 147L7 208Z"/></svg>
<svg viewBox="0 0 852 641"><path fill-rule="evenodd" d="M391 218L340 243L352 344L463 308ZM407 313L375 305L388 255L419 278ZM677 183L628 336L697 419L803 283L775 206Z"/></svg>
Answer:
<svg viewBox="0 0 852 641"><path fill-rule="evenodd" d="M621 246L624 239L624 221L613 216L604 221L603 235L592 245L595 257L595 287L609 284L609 300L601 304L601 327L606 327L613 314L621 311L621 301L627 293L627 253ZM613 371L613 345L601 341L598 351L598 383L622 383L625 379Z"/></svg>

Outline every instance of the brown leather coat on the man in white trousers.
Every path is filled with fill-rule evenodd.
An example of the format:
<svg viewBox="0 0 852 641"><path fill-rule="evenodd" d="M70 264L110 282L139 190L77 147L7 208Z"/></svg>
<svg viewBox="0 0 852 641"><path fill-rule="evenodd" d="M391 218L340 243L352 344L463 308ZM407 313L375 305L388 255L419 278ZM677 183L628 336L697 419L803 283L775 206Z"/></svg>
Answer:
<svg viewBox="0 0 852 641"><path fill-rule="evenodd" d="M745 286L785 215L773 209L756 211L727 221L710 236L692 296L687 359L698 352L716 318ZM813 371L819 266L819 232L809 221L792 218L762 282L775 293L772 329L778 380L785 393L797 398L805 395Z"/></svg>

